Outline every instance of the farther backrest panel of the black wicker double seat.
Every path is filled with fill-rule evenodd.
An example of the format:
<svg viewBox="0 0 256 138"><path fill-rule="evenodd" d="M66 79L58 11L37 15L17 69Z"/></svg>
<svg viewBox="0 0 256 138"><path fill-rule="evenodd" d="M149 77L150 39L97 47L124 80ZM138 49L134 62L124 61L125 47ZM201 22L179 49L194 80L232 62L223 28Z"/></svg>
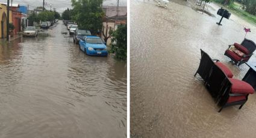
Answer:
<svg viewBox="0 0 256 138"><path fill-rule="evenodd" d="M211 68L214 65L213 60L210 58L210 56L205 53L202 49L201 50L201 61L198 67L198 74L206 81Z"/></svg>

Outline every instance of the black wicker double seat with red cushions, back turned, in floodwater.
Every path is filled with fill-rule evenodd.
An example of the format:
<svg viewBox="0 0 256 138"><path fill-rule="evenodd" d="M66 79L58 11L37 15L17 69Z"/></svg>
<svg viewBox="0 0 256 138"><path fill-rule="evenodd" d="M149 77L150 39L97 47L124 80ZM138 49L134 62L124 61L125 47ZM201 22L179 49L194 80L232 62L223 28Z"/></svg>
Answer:
<svg viewBox="0 0 256 138"><path fill-rule="evenodd" d="M211 59L203 50L201 50L201 61L196 74L202 77L205 87L220 106L219 112L224 107L234 105L240 105L239 109L241 109L248 100L249 94L254 93L254 88L249 83L233 79L233 74L228 67L217 59Z"/></svg>

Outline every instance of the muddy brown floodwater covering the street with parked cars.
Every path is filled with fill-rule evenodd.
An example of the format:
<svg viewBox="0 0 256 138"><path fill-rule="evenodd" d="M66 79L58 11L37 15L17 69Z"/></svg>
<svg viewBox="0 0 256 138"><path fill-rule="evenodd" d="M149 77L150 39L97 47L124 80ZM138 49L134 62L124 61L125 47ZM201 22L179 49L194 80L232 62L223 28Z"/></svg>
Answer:
<svg viewBox="0 0 256 138"><path fill-rule="evenodd" d="M0 137L126 137L126 63L61 34L0 46Z"/></svg>

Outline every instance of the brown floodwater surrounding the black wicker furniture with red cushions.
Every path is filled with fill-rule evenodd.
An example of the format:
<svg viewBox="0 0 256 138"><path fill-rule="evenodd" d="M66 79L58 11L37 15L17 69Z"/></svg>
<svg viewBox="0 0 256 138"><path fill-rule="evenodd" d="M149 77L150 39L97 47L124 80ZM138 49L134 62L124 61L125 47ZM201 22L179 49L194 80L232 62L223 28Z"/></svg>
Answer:
<svg viewBox="0 0 256 138"><path fill-rule="evenodd" d="M151 0L131 1L131 137L256 137L256 94L245 106L219 107L199 76L200 50L220 59L242 79L248 67L231 65L228 44L256 41L255 26L235 15L217 26L213 16L198 13L185 1L167 9ZM252 56L250 62L256 57Z"/></svg>

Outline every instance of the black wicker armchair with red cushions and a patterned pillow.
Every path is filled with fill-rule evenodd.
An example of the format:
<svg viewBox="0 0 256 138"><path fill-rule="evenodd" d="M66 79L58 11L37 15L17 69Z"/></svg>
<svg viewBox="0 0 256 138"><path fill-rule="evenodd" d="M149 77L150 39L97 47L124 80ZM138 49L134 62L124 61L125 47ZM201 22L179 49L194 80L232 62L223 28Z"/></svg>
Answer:
<svg viewBox="0 0 256 138"><path fill-rule="evenodd" d="M228 56L234 65L239 66L249 61L255 49L256 44L254 41L245 38L241 44L234 43L229 45L224 55Z"/></svg>

